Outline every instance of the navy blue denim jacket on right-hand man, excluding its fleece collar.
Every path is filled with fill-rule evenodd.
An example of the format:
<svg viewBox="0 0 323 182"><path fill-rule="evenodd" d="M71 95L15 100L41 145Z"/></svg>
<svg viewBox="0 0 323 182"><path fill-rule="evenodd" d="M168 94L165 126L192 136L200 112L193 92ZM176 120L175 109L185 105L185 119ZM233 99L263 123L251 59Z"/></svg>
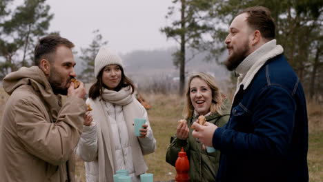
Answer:
<svg viewBox="0 0 323 182"><path fill-rule="evenodd" d="M280 54L239 88L228 123L215 130L216 181L309 181L308 137L302 85Z"/></svg>

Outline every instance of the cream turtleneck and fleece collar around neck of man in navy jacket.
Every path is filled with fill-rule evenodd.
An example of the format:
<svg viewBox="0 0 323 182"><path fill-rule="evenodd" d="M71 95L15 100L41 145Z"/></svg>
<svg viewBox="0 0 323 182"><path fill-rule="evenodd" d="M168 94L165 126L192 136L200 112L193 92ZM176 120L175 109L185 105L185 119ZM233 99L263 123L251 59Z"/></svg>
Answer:
<svg viewBox="0 0 323 182"><path fill-rule="evenodd" d="M253 81L255 74L262 68L262 65L273 57L282 54L284 49L281 45L276 45L276 39L268 41L260 48L248 55L235 69L239 73L237 78L237 88L235 94L239 91L240 85L244 85L244 90Z"/></svg>

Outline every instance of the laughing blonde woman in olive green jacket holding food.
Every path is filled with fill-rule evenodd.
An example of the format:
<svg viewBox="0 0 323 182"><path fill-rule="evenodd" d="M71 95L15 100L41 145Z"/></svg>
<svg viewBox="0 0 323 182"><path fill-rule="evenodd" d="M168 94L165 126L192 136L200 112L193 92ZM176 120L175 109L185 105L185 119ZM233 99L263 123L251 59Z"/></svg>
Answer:
<svg viewBox="0 0 323 182"><path fill-rule="evenodd" d="M166 162L175 166L178 152L184 148L190 162L190 181L215 181L219 168L219 151L207 152L202 143L192 136L190 126L200 115L215 125L224 125L229 118L231 102L221 94L215 79L206 73L190 75L186 88L185 121L179 122L177 132L170 139Z"/></svg>

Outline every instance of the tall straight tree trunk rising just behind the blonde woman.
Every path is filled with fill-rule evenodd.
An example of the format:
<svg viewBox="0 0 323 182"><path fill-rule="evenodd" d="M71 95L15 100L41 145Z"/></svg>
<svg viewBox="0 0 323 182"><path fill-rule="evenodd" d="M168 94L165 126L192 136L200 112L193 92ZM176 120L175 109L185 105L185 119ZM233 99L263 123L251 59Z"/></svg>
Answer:
<svg viewBox="0 0 323 182"><path fill-rule="evenodd" d="M182 30L185 30L185 0L182 1L182 10L181 10L181 27ZM185 86L185 32L181 34L181 53L180 53L180 62L179 62L179 95L184 94Z"/></svg>

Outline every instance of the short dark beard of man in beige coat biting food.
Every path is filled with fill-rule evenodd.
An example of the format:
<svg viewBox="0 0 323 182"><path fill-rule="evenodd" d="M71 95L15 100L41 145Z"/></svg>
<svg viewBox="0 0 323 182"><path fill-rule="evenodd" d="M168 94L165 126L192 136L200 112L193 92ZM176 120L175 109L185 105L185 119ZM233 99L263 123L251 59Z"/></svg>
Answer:
<svg viewBox="0 0 323 182"><path fill-rule="evenodd" d="M64 85L63 81L63 77L58 74L54 66L52 66L52 69L50 70L49 83L54 94L67 95L68 88L66 87L66 85L70 81L70 79Z"/></svg>

